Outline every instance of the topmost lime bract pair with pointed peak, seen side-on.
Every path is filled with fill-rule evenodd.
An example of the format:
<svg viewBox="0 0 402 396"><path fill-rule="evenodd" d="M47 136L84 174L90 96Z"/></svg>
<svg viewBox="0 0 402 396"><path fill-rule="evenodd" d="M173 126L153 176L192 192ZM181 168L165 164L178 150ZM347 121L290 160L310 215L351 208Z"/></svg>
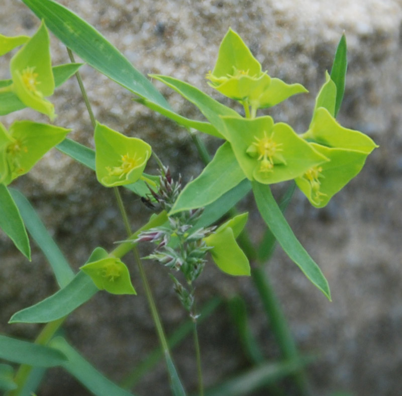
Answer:
<svg viewBox="0 0 402 396"><path fill-rule="evenodd" d="M254 111L274 106L295 93L307 92L303 85L288 85L262 72L260 62L232 29L223 38L217 63L207 78L213 88Z"/></svg>

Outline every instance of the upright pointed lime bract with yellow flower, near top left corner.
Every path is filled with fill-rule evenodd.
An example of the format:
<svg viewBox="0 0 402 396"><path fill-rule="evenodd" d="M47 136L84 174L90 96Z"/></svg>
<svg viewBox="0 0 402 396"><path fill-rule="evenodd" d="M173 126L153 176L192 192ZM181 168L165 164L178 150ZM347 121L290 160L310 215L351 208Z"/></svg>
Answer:
<svg viewBox="0 0 402 396"><path fill-rule="evenodd" d="M13 56L10 62L13 89L24 105L46 114L51 120L53 105L45 99L54 91L54 78L49 52L49 34L44 22L34 36Z"/></svg>

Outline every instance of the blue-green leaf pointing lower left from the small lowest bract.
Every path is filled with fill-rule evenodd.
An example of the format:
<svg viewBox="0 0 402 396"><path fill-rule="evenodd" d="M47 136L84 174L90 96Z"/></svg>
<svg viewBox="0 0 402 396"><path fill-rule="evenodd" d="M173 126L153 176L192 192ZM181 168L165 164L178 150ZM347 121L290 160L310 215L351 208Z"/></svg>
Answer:
<svg viewBox="0 0 402 396"><path fill-rule="evenodd" d="M16 312L9 323L49 323L65 317L87 302L99 289L84 272L78 272L67 286L38 304Z"/></svg>

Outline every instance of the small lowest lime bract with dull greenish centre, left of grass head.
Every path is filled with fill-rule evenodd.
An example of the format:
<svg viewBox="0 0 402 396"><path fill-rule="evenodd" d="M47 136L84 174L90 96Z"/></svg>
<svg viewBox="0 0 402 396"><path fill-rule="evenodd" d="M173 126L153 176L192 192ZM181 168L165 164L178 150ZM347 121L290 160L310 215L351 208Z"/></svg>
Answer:
<svg viewBox="0 0 402 396"><path fill-rule="evenodd" d="M112 294L137 294L126 265L116 257L102 258L83 265L81 271L89 275L100 290Z"/></svg>

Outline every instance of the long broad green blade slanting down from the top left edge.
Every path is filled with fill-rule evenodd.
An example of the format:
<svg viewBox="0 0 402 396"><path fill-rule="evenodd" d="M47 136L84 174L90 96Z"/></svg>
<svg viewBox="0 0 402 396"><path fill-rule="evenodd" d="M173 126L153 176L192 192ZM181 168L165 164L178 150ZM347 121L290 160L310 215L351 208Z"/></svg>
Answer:
<svg viewBox="0 0 402 396"><path fill-rule="evenodd" d="M105 37L77 15L51 0L23 0L23 3L46 22L48 29L60 41L90 66L131 92L171 110L151 82Z"/></svg>

